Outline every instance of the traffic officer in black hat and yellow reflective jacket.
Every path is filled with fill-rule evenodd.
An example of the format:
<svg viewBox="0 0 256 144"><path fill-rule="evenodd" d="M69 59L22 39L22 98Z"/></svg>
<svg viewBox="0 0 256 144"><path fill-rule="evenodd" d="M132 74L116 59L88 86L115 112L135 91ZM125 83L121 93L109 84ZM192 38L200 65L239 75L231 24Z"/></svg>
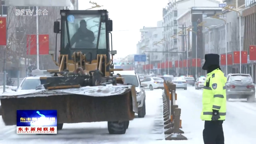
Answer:
<svg viewBox="0 0 256 144"><path fill-rule="evenodd" d="M207 70L202 96L203 110L201 119L204 120L204 144L224 144L222 123L226 117L226 77L220 69L220 56L206 54L202 67Z"/></svg>

